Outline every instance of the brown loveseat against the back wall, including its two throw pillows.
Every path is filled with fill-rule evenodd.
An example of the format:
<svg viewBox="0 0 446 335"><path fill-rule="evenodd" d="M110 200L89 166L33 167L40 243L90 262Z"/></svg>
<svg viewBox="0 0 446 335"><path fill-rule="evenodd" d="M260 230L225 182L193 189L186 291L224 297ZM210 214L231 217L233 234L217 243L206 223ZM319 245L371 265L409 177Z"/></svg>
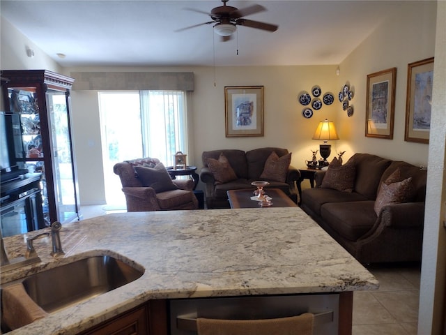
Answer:
<svg viewBox="0 0 446 335"><path fill-rule="evenodd" d="M275 156L275 157L272 157ZM279 188L286 195L297 202L297 189L295 182L299 180L299 170L290 165L291 153L287 149L265 147L249 151L238 149L221 149L203 151L201 155L203 168L200 170L200 179L206 185L206 203L208 209L229 208L227 191L243 188L252 188L252 181L266 180L268 187ZM269 160L268 160L269 158ZM233 170L229 178L218 180L215 166L223 161ZM272 162L271 164L266 163ZM226 166L223 165L223 166ZM214 170L213 170L214 169ZM228 169L224 169L226 172ZM282 172L284 172L282 174ZM216 178L217 177L217 178ZM227 176L226 176L227 177Z"/></svg>

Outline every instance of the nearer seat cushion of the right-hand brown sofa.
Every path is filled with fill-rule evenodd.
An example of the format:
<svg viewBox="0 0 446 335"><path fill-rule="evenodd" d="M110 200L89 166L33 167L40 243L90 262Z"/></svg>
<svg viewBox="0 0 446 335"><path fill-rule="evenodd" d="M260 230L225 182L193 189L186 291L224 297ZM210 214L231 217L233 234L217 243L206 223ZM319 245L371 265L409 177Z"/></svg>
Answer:
<svg viewBox="0 0 446 335"><path fill-rule="evenodd" d="M373 200L323 204L321 216L330 228L350 241L364 236L377 218Z"/></svg>

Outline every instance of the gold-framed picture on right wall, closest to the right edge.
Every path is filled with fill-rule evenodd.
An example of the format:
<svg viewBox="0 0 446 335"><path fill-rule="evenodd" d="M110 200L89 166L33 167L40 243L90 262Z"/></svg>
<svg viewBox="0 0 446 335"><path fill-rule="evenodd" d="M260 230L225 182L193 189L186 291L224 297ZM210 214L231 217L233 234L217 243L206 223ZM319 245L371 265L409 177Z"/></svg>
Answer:
<svg viewBox="0 0 446 335"><path fill-rule="evenodd" d="M407 142L429 143L432 81L433 57L408 64L404 131Z"/></svg>

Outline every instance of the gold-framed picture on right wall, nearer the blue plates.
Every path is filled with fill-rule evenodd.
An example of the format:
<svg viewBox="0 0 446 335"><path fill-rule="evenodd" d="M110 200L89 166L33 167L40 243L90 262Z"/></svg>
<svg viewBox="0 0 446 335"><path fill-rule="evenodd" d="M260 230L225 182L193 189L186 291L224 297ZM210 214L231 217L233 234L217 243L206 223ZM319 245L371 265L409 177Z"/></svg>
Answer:
<svg viewBox="0 0 446 335"><path fill-rule="evenodd" d="M367 75L365 135L392 140L397 68Z"/></svg>

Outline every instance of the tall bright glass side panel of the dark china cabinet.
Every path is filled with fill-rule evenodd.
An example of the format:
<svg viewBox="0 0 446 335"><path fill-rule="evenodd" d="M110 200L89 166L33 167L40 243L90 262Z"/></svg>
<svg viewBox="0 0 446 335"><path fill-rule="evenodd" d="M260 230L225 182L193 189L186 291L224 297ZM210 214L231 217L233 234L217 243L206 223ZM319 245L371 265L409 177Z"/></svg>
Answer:
<svg viewBox="0 0 446 335"><path fill-rule="evenodd" d="M65 92L47 91L47 109L51 127L56 207L58 207L59 221L64 222L77 213Z"/></svg>

